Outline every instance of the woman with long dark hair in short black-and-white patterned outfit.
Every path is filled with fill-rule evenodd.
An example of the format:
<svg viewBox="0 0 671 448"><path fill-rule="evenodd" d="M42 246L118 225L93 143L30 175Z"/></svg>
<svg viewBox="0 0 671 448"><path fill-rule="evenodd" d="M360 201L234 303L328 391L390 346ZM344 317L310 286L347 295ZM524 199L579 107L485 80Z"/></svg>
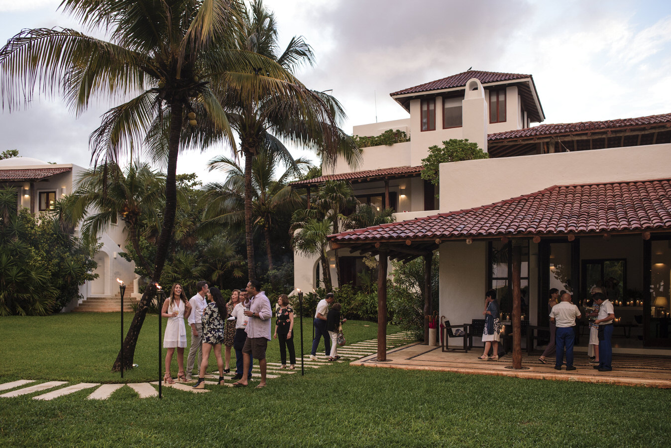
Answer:
<svg viewBox="0 0 671 448"><path fill-rule="evenodd" d="M207 292L209 304L203 310L203 361L198 373L198 382L194 389L205 389L205 371L209 363L209 353L214 347L214 356L219 368L219 384L223 384L223 359L221 359L221 344L223 343L223 327L228 317L226 302L219 288L213 286Z"/></svg>

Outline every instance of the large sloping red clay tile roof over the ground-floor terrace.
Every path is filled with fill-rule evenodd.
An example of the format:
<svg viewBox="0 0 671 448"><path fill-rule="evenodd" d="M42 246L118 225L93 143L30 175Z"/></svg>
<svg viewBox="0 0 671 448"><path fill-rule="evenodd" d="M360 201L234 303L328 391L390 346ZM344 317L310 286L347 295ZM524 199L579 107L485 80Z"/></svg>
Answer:
<svg viewBox="0 0 671 448"><path fill-rule="evenodd" d="M329 236L338 242L671 229L671 179L551 186L474 209Z"/></svg>

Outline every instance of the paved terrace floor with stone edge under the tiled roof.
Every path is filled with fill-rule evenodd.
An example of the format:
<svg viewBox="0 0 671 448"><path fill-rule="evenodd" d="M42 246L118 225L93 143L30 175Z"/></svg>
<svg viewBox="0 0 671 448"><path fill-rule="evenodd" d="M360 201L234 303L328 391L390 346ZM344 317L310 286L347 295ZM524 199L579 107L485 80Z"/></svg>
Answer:
<svg viewBox="0 0 671 448"><path fill-rule="evenodd" d="M540 363L538 353L527 356L522 352L523 370L513 370L511 354L498 361L480 361L477 357L481 354L481 348L468 353L444 352L441 347L412 343L387 351L386 361L378 362L376 355L370 355L350 365L671 388L671 356L613 353L613 371L597 372L588 363L587 355L578 352L574 357L577 370L566 372L566 366L561 371L554 370L554 357L548 357L547 364Z"/></svg>

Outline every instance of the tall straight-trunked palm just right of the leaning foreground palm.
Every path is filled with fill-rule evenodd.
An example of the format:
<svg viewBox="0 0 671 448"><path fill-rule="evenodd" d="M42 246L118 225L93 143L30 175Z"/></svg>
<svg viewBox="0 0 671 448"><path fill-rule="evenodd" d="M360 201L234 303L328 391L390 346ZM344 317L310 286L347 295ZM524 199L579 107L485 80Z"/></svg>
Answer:
<svg viewBox="0 0 671 448"><path fill-rule="evenodd" d="M313 63L312 49L302 37L292 38L287 48L281 54L278 52L276 22L261 0L252 1L251 11L245 10L242 14L237 38L238 48L275 60L289 71L301 64ZM292 97L278 97L272 89L259 87L262 89L253 99L240 95L236 89L226 91L222 99L229 111L229 123L240 136L240 150L245 159L244 222L250 278L256 278L252 238L252 160L262 148L270 150L276 160L287 165L293 158L277 137L313 148L327 164L335 163L339 154L355 164L360 155L354 141L338 127L345 114L333 97L310 91L303 85L297 85Z"/></svg>

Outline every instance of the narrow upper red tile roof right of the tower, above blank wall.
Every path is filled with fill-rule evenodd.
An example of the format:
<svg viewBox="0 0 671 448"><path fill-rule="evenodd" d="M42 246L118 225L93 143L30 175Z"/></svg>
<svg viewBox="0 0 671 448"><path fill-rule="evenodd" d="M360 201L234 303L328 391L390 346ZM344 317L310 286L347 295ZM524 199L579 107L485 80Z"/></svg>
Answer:
<svg viewBox="0 0 671 448"><path fill-rule="evenodd" d="M505 139L523 139L526 137L544 137L546 135L557 135L564 133L586 133L594 131L607 131L623 127L644 126L671 126L671 113L662 115L650 115L648 117L625 118L606 121L580 121L579 123L558 123L549 125L538 125L517 129L515 131L491 133L487 136L488 142L496 142Z"/></svg>

